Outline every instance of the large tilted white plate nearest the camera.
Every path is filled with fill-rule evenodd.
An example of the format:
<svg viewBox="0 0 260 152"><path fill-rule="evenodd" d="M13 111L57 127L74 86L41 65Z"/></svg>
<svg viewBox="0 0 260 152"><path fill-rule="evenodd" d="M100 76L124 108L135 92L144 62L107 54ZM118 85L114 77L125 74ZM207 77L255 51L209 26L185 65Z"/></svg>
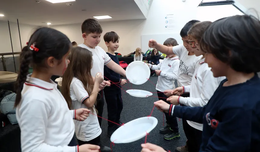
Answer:
<svg viewBox="0 0 260 152"><path fill-rule="evenodd" d="M115 144L130 143L146 136L152 131L158 120L154 117L142 117L119 127L111 136L110 141Z"/></svg>

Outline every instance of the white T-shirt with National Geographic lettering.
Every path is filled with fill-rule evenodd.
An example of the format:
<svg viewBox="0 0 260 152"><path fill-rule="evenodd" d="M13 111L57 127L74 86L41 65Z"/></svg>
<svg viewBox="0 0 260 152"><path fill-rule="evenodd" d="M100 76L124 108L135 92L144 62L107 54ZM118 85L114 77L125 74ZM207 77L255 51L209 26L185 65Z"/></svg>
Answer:
<svg viewBox="0 0 260 152"><path fill-rule="evenodd" d="M190 85L193 73L202 55L200 56L188 55L189 52L187 51L187 49L184 47L183 44L174 46L172 48L172 51L174 54L179 56L180 59L178 79L177 79L178 87Z"/></svg>

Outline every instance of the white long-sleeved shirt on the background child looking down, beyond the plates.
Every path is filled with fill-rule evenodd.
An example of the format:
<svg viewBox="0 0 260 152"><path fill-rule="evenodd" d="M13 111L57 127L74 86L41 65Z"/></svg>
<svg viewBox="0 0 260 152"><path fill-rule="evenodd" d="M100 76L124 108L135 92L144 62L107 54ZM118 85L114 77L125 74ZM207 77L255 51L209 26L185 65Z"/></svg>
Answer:
<svg viewBox="0 0 260 152"><path fill-rule="evenodd" d="M149 68L152 70L161 70L156 90L164 92L167 89L175 89L174 80L178 78L179 64L180 60L178 56L173 58L166 57L158 65L149 64Z"/></svg>

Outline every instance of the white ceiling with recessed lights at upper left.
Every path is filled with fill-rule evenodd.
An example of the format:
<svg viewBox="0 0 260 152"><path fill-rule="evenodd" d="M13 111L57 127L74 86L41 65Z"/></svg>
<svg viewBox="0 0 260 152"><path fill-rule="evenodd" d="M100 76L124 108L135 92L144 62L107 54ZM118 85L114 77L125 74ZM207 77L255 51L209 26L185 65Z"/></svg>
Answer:
<svg viewBox="0 0 260 152"><path fill-rule="evenodd" d="M98 21L119 21L145 19L134 0L76 0L65 3L50 3L45 0L1 0L0 17L2 21L16 22L30 25L52 25L82 23L85 19L109 15L111 19ZM82 10L86 11L82 11ZM42 23L46 22L46 23Z"/></svg>

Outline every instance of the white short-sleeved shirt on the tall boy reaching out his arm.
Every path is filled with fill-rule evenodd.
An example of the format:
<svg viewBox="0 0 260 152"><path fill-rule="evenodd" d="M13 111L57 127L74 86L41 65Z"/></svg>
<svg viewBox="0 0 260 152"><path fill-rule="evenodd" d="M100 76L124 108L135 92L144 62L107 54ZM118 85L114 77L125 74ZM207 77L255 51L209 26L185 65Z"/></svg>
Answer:
<svg viewBox="0 0 260 152"><path fill-rule="evenodd" d="M95 77L96 73L98 72L102 72L102 75L104 75L104 65L108 64L111 61L111 58L106 54L106 52L99 46L96 46L95 49L91 49L85 44L80 44L78 46L88 49L93 54L93 66L91 68L91 75Z"/></svg>

